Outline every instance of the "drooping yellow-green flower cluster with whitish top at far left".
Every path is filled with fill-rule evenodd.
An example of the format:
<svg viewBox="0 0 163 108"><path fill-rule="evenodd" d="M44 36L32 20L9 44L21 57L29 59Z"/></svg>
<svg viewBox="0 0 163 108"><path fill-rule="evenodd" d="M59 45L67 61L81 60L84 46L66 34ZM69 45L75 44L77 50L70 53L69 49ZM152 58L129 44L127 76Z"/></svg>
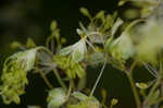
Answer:
<svg viewBox="0 0 163 108"><path fill-rule="evenodd" d="M5 60L0 86L0 95L5 104L20 104L18 96L25 93L25 85L28 84L26 75L34 67L36 52L37 48L20 51Z"/></svg>

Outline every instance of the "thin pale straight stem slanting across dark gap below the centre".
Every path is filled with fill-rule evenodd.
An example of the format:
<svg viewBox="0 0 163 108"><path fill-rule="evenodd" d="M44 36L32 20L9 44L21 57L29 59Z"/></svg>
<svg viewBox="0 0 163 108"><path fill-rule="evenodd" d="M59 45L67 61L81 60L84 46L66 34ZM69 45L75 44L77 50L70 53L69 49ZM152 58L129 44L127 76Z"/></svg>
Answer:
<svg viewBox="0 0 163 108"><path fill-rule="evenodd" d="M93 85L93 87L91 89L90 97L93 95L93 93L96 91L96 87L97 87L97 85L98 85L98 83L99 83L99 81L100 81L100 79L102 76L102 73L104 71L105 65L106 65L106 61L104 61L103 67L102 67L101 71L100 71L100 74L99 74L99 76L98 76L98 79L97 79L97 81L96 81L96 83L95 83L95 85Z"/></svg>

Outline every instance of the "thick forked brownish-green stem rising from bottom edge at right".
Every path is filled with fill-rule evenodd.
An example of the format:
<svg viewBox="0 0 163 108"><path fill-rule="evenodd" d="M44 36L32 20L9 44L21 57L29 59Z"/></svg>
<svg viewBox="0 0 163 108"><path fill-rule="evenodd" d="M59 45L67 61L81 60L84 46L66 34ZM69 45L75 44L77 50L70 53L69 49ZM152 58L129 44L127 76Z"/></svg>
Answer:
<svg viewBox="0 0 163 108"><path fill-rule="evenodd" d="M136 100L137 108L140 108L141 101L140 101L139 94L137 92L137 88L135 86L135 81L134 81L134 77L133 77L133 72L134 72L134 68L136 67L136 64L137 64L137 61L134 61L134 63L130 67L130 70L129 71L125 70L125 72L126 72L127 77L129 80L130 87L131 87L131 91L133 91L133 94L134 94L134 98Z"/></svg>

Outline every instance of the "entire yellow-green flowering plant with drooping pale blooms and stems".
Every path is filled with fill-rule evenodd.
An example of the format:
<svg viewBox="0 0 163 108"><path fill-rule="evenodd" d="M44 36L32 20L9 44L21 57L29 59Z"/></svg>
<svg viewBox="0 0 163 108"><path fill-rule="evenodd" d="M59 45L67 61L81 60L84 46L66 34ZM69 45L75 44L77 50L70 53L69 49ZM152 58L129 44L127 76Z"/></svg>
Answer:
<svg viewBox="0 0 163 108"><path fill-rule="evenodd" d="M4 104L21 103L20 96L25 94L28 84L27 74L35 72L49 87L48 108L113 108L120 104L118 97L108 104L105 91L101 91L102 100L93 94L105 67L111 64L126 74L136 108L162 108L163 1L120 0L118 5L125 7L126 3L140 9L139 17L128 21L118 12L106 14L105 11L92 16L86 8L80 8L89 23L79 22L76 32L80 39L67 47L63 47L66 39L60 35L55 21L50 25L46 47L37 46L32 38L25 45L11 44L12 48L22 51L4 61L0 85ZM88 65L100 65L101 70L95 85L86 93ZM153 80L135 82L134 72L138 67L145 68ZM60 86L48 80L49 73L53 73Z"/></svg>

